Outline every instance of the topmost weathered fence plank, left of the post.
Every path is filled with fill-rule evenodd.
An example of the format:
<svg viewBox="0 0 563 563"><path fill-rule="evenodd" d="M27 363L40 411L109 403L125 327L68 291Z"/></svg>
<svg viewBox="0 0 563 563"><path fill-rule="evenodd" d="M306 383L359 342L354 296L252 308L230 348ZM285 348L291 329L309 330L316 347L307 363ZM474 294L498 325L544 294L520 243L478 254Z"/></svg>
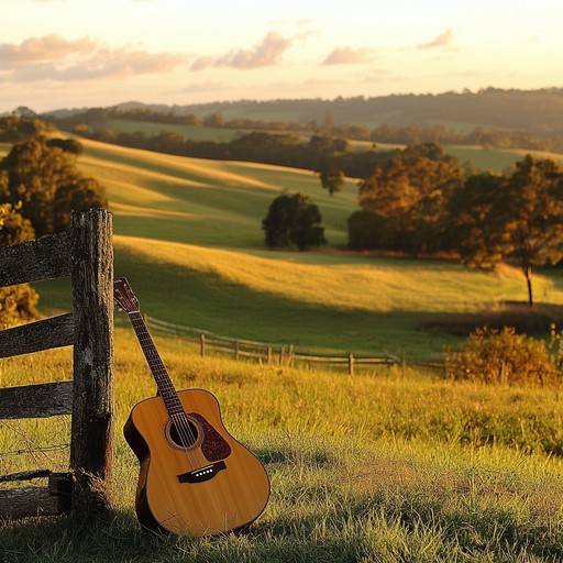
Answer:
<svg viewBox="0 0 563 563"><path fill-rule="evenodd" d="M70 232L0 249L0 287L70 275Z"/></svg>

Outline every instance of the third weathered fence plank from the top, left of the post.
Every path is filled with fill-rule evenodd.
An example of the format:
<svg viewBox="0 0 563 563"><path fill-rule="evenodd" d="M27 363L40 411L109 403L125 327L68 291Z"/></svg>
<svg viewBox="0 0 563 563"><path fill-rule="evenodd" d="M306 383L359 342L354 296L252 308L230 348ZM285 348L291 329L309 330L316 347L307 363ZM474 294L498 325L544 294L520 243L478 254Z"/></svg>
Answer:
<svg viewBox="0 0 563 563"><path fill-rule="evenodd" d="M47 418L73 412L73 382L0 389L0 420Z"/></svg>

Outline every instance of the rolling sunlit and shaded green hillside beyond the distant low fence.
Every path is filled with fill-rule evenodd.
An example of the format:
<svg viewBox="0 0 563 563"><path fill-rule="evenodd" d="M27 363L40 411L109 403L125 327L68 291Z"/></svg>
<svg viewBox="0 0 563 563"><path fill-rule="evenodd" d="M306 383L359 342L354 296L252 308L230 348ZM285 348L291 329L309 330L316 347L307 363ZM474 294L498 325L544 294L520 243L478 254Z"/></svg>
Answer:
<svg viewBox="0 0 563 563"><path fill-rule="evenodd" d="M523 278L509 267L485 274L455 262L347 253L352 180L330 197L303 170L91 141L80 167L108 189L117 275L130 278L145 312L169 322L300 350L428 357L453 340L419 332L421 318L526 298ZM261 221L285 188L318 203L328 247L265 247ZM534 284L541 300L562 297L554 278L537 276ZM38 289L45 307L68 307L67 288L45 283Z"/></svg>

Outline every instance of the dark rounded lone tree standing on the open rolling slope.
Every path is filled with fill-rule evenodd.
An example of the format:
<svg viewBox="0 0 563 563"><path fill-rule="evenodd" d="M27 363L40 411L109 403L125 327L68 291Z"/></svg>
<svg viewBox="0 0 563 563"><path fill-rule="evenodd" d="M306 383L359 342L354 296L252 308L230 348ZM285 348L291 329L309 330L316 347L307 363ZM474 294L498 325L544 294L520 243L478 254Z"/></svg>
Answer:
<svg viewBox="0 0 563 563"><path fill-rule="evenodd" d="M262 229L271 247L305 251L327 243L319 208L303 194L282 194L271 203Z"/></svg>

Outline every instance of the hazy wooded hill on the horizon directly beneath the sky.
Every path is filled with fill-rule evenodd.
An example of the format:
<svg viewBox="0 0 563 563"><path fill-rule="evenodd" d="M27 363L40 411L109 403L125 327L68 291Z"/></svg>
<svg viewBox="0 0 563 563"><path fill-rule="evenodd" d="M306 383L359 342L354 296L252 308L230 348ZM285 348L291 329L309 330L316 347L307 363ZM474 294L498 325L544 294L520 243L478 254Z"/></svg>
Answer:
<svg viewBox="0 0 563 563"><path fill-rule="evenodd" d="M375 98L241 100L187 106L152 106L128 102L120 110L150 109L158 112L199 117L219 113L225 119L242 118L295 123L357 124L369 129L389 125L441 123L455 131L476 126L523 131L549 137L563 134L563 89L501 90L439 95L394 95ZM67 118L82 110L60 110L49 115Z"/></svg>

